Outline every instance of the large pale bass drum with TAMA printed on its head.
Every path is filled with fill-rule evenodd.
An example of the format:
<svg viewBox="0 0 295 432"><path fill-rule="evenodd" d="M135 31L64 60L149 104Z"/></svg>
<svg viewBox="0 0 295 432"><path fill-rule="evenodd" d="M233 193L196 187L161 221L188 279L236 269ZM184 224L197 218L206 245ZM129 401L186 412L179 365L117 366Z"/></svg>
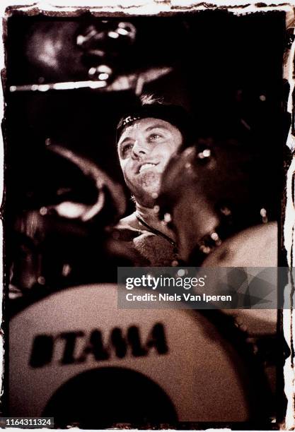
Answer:
<svg viewBox="0 0 295 432"><path fill-rule="evenodd" d="M231 317L120 309L117 289L66 289L11 319L10 416L59 428L267 422L267 380Z"/></svg>

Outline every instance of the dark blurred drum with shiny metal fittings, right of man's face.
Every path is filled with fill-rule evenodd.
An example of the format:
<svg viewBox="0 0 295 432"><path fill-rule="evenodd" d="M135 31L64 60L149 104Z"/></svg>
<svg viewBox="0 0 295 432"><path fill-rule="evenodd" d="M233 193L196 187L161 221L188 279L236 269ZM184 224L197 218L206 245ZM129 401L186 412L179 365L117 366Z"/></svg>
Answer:
<svg viewBox="0 0 295 432"><path fill-rule="evenodd" d="M159 217L175 232L185 263L200 265L225 239L267 223L261 181L255 153L230 141L201 140L170 160L158 198Z"/></svg>

